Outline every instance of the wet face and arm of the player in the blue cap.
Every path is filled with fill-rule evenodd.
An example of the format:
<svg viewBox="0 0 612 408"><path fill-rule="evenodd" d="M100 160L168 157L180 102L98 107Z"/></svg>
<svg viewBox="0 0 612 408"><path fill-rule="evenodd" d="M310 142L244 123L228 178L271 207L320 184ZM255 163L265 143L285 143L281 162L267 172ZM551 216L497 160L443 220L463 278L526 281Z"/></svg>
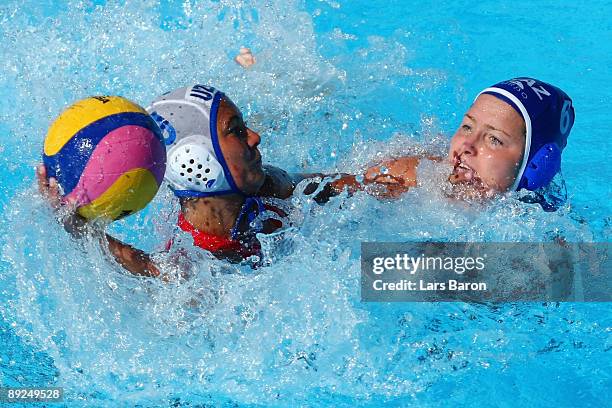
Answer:
<svg viewBox="0 0 612 408"><path fill-rule="evenodd" d="M453 166L448 177L453 195L486 198L507 191L516 179L524 148L523 118L495 96L480 95L451 139L447 161ZM398 197L416 186L420 160L400 157L384 161L366 171L366 180L387 184L386 195Z"/></svg>

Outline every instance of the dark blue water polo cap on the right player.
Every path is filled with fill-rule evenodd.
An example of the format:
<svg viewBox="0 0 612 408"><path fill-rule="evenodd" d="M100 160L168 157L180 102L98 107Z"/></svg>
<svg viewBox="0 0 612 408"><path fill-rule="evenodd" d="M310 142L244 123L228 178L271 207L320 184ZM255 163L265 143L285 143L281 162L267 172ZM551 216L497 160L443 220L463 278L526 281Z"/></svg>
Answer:
<svg viewBox="0 0 612 408"><path fill-rule="evenodd" d="M572 100L561 89L533 78L514 78L482 91L512 106L525 121L523 160L511 190L546 187L561 170L561 151L574 124Z"/></svg>

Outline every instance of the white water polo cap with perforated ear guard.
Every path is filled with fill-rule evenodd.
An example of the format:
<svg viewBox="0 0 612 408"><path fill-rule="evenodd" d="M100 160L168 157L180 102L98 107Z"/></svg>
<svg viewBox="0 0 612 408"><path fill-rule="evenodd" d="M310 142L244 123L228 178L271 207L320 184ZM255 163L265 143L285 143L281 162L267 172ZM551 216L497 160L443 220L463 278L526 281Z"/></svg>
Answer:
<svg viewBox="0 0 612 408"><path fill-rule="evenodd" d="M193 85L158 97L147 111L167 146L165 179L178 197L243 194L227 167L217 135L217 112L224 94Z"/></svg>

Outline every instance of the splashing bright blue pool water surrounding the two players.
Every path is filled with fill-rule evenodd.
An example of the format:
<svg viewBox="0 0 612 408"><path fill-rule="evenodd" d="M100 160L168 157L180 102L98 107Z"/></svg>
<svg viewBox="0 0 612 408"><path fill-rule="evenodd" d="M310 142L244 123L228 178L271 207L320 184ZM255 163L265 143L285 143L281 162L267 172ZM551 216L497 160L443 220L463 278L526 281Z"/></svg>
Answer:
<svg viewBox="0 0 612 408"><path fill-rule="evenodd" d="M606 304L359 298L361 241L610 241L607 2L128 3L0 6L0 384L62 386L66 405L96 407L609 404ZM231 61L241 45L253 69ZM260 131L264 161L358 172L444 152L473 95L518 75L558 84L576 107L569 201L556 213L512 197L449 203L443 169L424 165L431 181L394 202L357 194L319 207L298 193L296 227L262 238L269 267L186 248L193 277L167 285L73 241L33 186L50 121L91 94L146 105L213 83ZM160 191L110 231L159 251L177 211Z"/></svg>

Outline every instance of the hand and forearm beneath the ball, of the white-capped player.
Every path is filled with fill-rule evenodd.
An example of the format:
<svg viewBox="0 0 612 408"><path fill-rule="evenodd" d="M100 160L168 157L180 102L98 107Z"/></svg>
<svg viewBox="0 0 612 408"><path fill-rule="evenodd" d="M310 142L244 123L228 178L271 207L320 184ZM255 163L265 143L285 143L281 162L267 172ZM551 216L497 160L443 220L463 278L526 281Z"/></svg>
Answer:
<svg viewBox="0 0 612 408"><path fill-rule="evenodd" d="M40 164L36 168L36 178L41 195L55 210L59 210L62 207L59 186L55 178L47 179L47 169L44 164ZM70 210L64 218L64 228L74 237L81 237L84 234L86 224L87 220L73 210ZM126 270L140 276L157 277L160 275L159 269L147 253L127 245L108 234L105 234L105 237L106 240L103 241L107 243L110 253Z"/></svg>

